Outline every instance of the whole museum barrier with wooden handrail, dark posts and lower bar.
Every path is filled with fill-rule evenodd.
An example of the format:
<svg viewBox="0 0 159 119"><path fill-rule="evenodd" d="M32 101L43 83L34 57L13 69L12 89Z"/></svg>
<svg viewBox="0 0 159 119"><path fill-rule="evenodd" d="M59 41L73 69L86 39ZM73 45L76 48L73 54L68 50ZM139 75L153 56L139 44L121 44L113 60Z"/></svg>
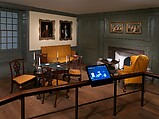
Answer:
<svg viewBox="0 0 159 119"><path fill-rule="evenodd" d="M141 89L117 95L117 81L122 80L124 78L130 78L130 77L136 77L136 76L142 76ZM116 116L116 114L117 114L117 111L116 111L117 100L116 99L119 96L123 96L123 95L127 95L127 94L131 94L131 93L135 93L135 92L140 91L141 92L141 106L144 106L144 92L145 92L144 81L145 81L145 76L159 79L159 75L153 74L153 73L147 73L147 72L117 75L117 76L113 77L113 80L114 80L114 96L107 97L107 98L100 99L100 100L95 100L95 101L92 101L92 102L87 102L87 103L80 104L80 105L78 104L78 88L80 88L82 86L90 85L90 82L88 80L81 81L81 82L76 82L76 83L71 83L69 85L63 85L63 86L59 86L59 87L52 87L52 86L50 86L50 87L40 87L40 88L34 88L34 89L23 90L23 91L19 91L19 92L16 92L16 93L12 93L12 94L9 94L8 96L0 98L0 106L4 106L5 104L8 104L10 102L13 102L15 100L20 99L20 102L21 102L21 119L25 119L25 98L26 97L29 97L29 96L32 96L32 95L37 95L39 93L47 93L47 92L50 92L50 91L59 91L59 90L75 88L75 106L69 107L69 108L66 108L66 109L62 109L62 110L58 110L58 111L54 111L54 112L49 112L49 113L46 113L46 114L37 115L37 116L34 116L34 117L29 117L29 119L40 117L40 116L45 116L47 114L57 113L57 112L60 112L60 111L71 109L71 108L75 108L75 119L78 119L78 107L84 106L84 105L87 105L87 104L91 104L91 103L95 103L95 102L99 102L99 101L102 101L102 100L110 99L110 98L114 99L114 101L113 101L113 103L114 103L113 115ZM151 92L151 93L153 93L153 92Z"/></svg>

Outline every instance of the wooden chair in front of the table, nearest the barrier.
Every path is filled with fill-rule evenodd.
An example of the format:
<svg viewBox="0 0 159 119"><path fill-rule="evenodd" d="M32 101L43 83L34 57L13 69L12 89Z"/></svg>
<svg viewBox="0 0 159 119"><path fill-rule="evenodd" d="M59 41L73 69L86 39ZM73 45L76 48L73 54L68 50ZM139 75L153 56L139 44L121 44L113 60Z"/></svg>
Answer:
<svg viewBox="0 0 159 119"><path fill-rule="evenodd" d="M42 79L43 86L59 86L68 84L67 81L58 79L58 72L51 67L41 67L42 68ZM68 90L66 91L66 98L68 98ZM56 91L56 98L54 102L54 107L56 107L56 102L58 98L58 91ZM44 103L45 94L43 94L42 104Z"/></svg>

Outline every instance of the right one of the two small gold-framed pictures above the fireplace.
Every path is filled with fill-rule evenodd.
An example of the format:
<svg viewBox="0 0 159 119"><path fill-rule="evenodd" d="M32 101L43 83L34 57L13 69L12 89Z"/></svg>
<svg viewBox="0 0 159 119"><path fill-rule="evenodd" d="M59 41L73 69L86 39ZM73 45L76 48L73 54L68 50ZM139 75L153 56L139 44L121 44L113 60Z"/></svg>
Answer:
<svg viewBox="0 0 159 119"><path fill-rule="evenodd" d="M127 22L126 23L126 33L141 34L142 33L141 22Z"/></svg>

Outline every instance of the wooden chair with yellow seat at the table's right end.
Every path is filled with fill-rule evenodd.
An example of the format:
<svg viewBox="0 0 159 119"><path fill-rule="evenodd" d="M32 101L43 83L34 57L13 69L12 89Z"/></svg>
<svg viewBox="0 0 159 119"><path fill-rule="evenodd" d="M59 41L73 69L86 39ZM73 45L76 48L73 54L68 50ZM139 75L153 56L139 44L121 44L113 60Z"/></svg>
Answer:
<svg viewBox="0 0 159 119"><path fill-rule="evenodd" d="M70 58L69 58L70 59ZM82 56L80 55L73 55L72 61L69 60L69 81L71 80L71 77L77 77L78 81L82 80L82 73L81 73L81 61L82 61Z"/></svg>

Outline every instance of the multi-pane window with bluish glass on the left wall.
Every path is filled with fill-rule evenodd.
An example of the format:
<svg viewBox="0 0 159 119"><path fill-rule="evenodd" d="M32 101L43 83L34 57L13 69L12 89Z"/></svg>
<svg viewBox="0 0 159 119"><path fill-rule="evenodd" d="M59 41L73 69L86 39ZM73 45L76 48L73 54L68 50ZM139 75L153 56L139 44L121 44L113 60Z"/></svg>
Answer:
<svg viewBox="0 0 159 119"><path fill-rule="evenodd" d="M0 50L18 48L18 13L0 11Z"/></svg>

